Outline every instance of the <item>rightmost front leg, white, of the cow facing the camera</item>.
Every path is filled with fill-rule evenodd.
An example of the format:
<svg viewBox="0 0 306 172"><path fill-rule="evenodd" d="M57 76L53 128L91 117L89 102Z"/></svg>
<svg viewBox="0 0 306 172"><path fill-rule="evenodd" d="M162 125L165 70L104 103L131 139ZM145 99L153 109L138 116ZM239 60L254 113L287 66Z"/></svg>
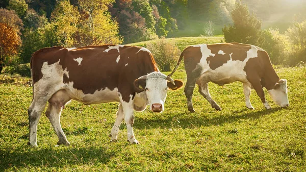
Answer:
<svg viewBox="0 0 306 172"><path fill-rule="evenodd" d="M125 102L121 99L121 105L124 114L124 120L126 123L126 130L127 130L127 141L130 143L139 144L136 140L134 132L133 132L133 124L134 124L134 101L132 98L129 102Z"/></svg>

